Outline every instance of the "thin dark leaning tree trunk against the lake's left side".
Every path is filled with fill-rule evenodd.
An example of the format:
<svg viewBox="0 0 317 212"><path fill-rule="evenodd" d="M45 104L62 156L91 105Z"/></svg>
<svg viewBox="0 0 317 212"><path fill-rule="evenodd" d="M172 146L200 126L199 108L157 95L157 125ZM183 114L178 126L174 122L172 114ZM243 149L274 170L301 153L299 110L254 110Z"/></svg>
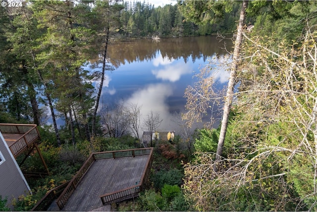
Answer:
<svg viewBox="0 0 317 212"><path fill-rule="evenodd" d="M100 101L101 92L102 92L102 89L103 89L103 84L104 84L104 79L105 79L106 55L107 55L107 49L108 49L109 31L110 31L110 26L109 26L109 20L108 20L108 24L107 24L107 27L106 27L106 45L105 45L105 49L104 49L102 76L101 76L101 80L100 80L100 86L99 86L99 89L98 89L98 95L97 95L97 99L96 99L96 106L95 106L94 114L93 114L93 117L92 117L92 132L91 132L92 136L96 136L96 116L97 116L99 101Z"/></svg>

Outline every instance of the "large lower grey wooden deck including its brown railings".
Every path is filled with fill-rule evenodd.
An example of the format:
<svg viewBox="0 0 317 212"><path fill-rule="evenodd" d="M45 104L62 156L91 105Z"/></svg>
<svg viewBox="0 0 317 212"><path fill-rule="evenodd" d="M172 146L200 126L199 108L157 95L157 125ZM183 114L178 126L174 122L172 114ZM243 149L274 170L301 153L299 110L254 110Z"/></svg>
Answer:
<svg viewBox="0 0 317 212"><path fill-rule="evenodd" d="M62 211L98 211L136 196L149 175L152 152L153 148L144 148L92 154L56 200L58 207Z"/></svg>

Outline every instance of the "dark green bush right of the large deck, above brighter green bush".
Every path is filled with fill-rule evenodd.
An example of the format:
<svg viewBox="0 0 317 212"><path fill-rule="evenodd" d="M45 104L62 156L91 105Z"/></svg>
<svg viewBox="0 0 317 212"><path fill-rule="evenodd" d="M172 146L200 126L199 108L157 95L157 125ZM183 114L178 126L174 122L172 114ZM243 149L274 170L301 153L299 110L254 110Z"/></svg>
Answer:
<svg viewBox="0 0 317 212"><path fill-rule="evenodd" d="M170 170L160 170L152 176L154 187L161 189L164 184L181 186L183 183L184 174L181 170L172 168Z"/></svg>

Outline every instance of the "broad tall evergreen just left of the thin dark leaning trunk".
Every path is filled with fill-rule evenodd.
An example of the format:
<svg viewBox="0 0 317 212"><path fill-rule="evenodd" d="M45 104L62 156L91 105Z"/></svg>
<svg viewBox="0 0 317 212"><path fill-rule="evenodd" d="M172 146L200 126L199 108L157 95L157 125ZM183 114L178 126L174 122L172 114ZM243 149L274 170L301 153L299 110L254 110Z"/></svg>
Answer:
<svg viewBox="0 0 317 212"><path fill-rule="evenodd" d="M41 37L41 53L37 54L39 68L46 72L44 80L50 79L48 89L57 100L56 108L68 113L72 142L75 144L73 112L71 107L80 102L81 110L86 117L87 108L92 101L89 97L91 86L83 82L90 79L87 72L80 67L88 59L85 46L89 44L92 31L80 22L81 13L71 1L34 2L36 17L47 33ZM79 112L79 111L75 111ZM84 120L87 123L87 120Z"/></svg>

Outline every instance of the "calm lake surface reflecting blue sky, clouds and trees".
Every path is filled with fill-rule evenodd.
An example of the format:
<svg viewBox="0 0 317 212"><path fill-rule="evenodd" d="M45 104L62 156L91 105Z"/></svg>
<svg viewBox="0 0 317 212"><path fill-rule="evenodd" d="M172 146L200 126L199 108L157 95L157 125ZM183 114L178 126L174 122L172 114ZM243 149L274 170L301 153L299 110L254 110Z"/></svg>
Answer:
<svg viewBox="0 0 317 212"><path fill-rule="evenodd" d="M231 41L226 43L230 50ZM100 113L105 104L138 104L142 106L142 120L153 111L163 119L159 130L176 130L173 114L185 112L184 91L197 81L193 76L210 61L221 62L229 54L224 50L224 41L206 36L110 44L108 57L114 70L106 72ZM98 69L101 65L93 70ZM215 67L212 74L217 86L227 84L228 71ZM95 86L96 83L100 82L94 82Z"/></svg>

